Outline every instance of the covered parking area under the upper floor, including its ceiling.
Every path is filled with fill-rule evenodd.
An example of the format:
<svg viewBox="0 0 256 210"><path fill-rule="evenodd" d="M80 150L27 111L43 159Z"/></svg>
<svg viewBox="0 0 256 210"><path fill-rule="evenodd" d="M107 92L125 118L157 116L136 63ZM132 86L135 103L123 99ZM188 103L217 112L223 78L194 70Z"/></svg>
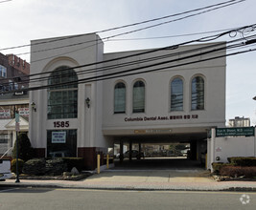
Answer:
<svg viewBox="0 0 256 210"><path fill-rule="evenodd" d="M204 167L200 158L202 153L207 152L208 130L201 127L147 129L108 137L113 139L115 145L114 162L117 168L192 169ZM137 151L137 154L133 155L130 151Z"/></svg>

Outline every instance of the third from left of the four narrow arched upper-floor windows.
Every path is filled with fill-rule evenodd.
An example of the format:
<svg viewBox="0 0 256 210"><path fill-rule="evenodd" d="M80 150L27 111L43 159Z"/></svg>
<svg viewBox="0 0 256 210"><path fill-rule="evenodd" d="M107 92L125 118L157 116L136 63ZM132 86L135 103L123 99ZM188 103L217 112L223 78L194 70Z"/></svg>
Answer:
<svg viewBox="0 0 256 210"><path fill-rule="evenodd" d="M183 110L183 81L181 78L173 79L171 83L171 111Z"/></svg>

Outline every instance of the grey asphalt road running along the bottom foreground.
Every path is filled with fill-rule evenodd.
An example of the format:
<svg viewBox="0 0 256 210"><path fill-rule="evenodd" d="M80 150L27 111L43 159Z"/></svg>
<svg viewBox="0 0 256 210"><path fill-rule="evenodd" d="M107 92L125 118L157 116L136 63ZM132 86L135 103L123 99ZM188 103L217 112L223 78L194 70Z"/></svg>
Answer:
<svg viewBox="0 0 256 210"><path fill-rule="evenodd" d="M244 202L244 204L242 203ZM256 193L0 187L0 209L256 209Z"/></svg>

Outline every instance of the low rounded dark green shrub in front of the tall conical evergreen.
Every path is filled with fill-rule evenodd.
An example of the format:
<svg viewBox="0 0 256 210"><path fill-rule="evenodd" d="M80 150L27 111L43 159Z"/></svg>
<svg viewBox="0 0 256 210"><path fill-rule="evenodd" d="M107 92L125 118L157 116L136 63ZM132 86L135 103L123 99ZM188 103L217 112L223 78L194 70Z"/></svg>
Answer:
<svg viewBox="0 0 256 210"><path fill-rule="evenodd" d="M26 161L22 170L22 172L27 175L44 175L45 171L44 158L35 158Z"/></svg>

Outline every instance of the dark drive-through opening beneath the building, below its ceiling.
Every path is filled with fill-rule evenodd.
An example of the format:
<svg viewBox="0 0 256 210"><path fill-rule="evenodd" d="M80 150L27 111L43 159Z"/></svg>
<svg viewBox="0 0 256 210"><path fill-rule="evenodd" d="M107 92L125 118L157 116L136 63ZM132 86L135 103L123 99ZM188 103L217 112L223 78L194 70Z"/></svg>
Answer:
<svg viewBox="0 0 256 210"><path fill-rule="evenodd" d="M204 167L206 134L182 136L128 136L114 144L115 165L121 168Z"/></svg>

